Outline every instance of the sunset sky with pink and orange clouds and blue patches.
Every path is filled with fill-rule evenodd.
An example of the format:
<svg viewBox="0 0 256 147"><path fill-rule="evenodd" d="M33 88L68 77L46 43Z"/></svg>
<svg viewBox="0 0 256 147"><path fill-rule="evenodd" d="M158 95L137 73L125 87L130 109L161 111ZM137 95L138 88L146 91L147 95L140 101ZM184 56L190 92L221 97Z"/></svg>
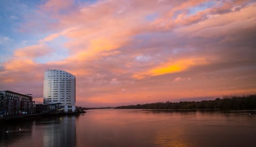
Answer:
<svg viewBox="0 0 256 147"><path fill-rule="evenodd" d="M76 76L76 105L256 93L256 2L0 2L0 90L43 101L44 71Z"/></svg>

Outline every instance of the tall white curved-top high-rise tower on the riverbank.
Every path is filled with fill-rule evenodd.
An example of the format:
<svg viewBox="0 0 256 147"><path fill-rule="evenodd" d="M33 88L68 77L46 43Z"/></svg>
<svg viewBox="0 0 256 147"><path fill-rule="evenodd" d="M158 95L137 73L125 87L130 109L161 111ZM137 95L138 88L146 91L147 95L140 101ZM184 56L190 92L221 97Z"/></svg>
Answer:
<svg viewBox="0 0 256 147"><path fill-rule="evenodd" d="M74 112L76 77L66 71L49 69L44 72L44 104L61 103L65 112Z"/></svg>

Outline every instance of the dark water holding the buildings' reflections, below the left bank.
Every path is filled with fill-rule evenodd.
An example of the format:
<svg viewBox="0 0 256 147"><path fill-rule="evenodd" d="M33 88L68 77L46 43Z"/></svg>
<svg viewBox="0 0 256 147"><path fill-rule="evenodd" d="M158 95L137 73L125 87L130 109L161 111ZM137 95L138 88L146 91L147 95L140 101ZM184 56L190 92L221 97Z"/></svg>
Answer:
<svg viewBox="0 0 256 147"><path fill-rule="evenodd" d="M76 119L74 116L44 117L2 123L0 146L76 146Z"/></svg>

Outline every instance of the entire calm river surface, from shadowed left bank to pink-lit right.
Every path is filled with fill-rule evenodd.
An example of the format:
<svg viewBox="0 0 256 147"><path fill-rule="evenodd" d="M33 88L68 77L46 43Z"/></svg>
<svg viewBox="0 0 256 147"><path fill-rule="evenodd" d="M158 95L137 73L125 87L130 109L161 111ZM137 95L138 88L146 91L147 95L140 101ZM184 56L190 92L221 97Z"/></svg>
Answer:
<svg viewBox="0 0 256 147"><path fill-rule="evenodd" d="M105 109L0 125L0 146L256 146L246 111Z"/></svg>

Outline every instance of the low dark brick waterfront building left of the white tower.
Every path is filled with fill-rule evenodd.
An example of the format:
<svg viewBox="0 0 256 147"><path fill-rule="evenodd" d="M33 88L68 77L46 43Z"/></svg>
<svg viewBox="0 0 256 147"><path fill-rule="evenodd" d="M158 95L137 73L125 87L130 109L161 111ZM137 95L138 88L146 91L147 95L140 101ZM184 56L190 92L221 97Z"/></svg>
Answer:
<svg viewBox="0 0 256 147"><path fill-rule="evenodd" d="M31 114L34 110L35 102L31 95L12 91L0 91L0 114L4 116L16 116Z"/></svg>

